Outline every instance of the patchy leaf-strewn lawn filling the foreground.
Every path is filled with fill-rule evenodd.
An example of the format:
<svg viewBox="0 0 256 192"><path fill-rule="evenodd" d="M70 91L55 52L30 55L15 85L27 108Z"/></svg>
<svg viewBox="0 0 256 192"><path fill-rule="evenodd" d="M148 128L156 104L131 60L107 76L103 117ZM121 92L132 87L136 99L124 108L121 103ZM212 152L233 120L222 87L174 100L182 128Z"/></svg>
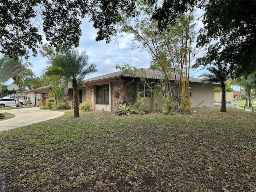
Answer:
<svg viewBox="0 0 256 192"><path fill-rule="evenodd" d="M0 132L8 192L256 191L256 115L81 112ZM195 112L196 111L196 112Z"/></svg>

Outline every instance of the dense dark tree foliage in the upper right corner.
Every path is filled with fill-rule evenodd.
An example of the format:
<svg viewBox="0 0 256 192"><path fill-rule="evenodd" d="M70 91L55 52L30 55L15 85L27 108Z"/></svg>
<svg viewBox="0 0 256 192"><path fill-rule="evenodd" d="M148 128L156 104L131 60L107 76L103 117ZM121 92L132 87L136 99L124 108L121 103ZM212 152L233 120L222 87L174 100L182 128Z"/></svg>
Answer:
<svg viewBox="0 0 256 192"><path fill-rule="evenodd" d="M201 64L229 64L232 78L256 70L255 18L255 1L208 1L202 20L204 29L197 40L197 45L207 50Z"/></svg>

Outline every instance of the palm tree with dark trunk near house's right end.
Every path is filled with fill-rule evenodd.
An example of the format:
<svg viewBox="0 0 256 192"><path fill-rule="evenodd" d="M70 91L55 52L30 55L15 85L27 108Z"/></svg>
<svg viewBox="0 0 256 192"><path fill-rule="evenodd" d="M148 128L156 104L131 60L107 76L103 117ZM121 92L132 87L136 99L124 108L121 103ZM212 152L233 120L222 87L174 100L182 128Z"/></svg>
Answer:
<svg viewBox="0 0 256 192"><path fill-rule="evenodd" d="M200 77L203 78L202 82L205 84L209 83L220 83L222 94L221 94L221 108L220 112L227 112L226 109L226 81L230 76L230 68L227 64L216 63L214 66L206 68L210 73L203 73Z"/></svg>

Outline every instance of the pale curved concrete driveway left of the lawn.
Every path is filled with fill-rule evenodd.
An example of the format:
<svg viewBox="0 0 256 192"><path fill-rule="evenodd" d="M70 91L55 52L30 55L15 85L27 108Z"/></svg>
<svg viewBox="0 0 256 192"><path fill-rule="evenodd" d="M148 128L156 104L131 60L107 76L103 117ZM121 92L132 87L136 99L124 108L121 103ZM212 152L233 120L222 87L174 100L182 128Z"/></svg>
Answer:
<svg viewBox="0 0 256 192"><path fill-rule="evenodd" d="M0 121L0 131L46 121L64 115L64 112L41 110L39 107L19 108L4 110L1 112L12 113L15 115L15 117L12 119Z"/></svg>

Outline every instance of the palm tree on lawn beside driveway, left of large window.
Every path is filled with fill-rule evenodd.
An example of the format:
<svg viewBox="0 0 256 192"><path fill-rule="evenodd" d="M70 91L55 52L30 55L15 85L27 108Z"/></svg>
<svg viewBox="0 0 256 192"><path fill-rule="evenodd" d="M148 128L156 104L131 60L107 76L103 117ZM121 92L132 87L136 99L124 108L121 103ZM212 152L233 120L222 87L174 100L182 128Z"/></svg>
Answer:
<svg viewBox="0 0 256 192"><path fill-rule="evenodd" d="M46 75L60 75L72 82L74 117L79 117L77 90L83 84L87 74L97 72L95 64L88 64L88 55L85 51L68 50L54 57L52 66L47 68Z"/></svg>

